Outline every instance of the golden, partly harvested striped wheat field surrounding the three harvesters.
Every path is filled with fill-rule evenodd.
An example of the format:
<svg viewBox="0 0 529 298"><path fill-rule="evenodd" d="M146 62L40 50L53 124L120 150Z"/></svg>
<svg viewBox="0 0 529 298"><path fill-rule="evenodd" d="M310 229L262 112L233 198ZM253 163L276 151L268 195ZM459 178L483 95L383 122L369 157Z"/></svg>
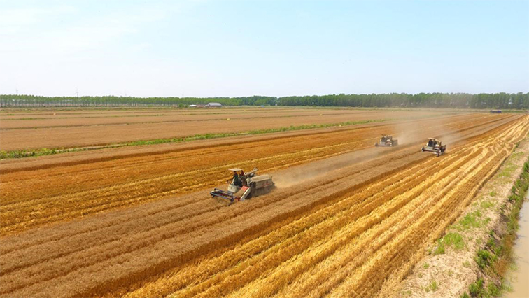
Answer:
<svg viewBox="0 0 529 298"><path fill-rule="evenodd" d="M387 296L528 131L431 115L2 160L0 296ZM402 145L373 148L383 133ZM220 204L232 166L278 187Z"/></svg>

